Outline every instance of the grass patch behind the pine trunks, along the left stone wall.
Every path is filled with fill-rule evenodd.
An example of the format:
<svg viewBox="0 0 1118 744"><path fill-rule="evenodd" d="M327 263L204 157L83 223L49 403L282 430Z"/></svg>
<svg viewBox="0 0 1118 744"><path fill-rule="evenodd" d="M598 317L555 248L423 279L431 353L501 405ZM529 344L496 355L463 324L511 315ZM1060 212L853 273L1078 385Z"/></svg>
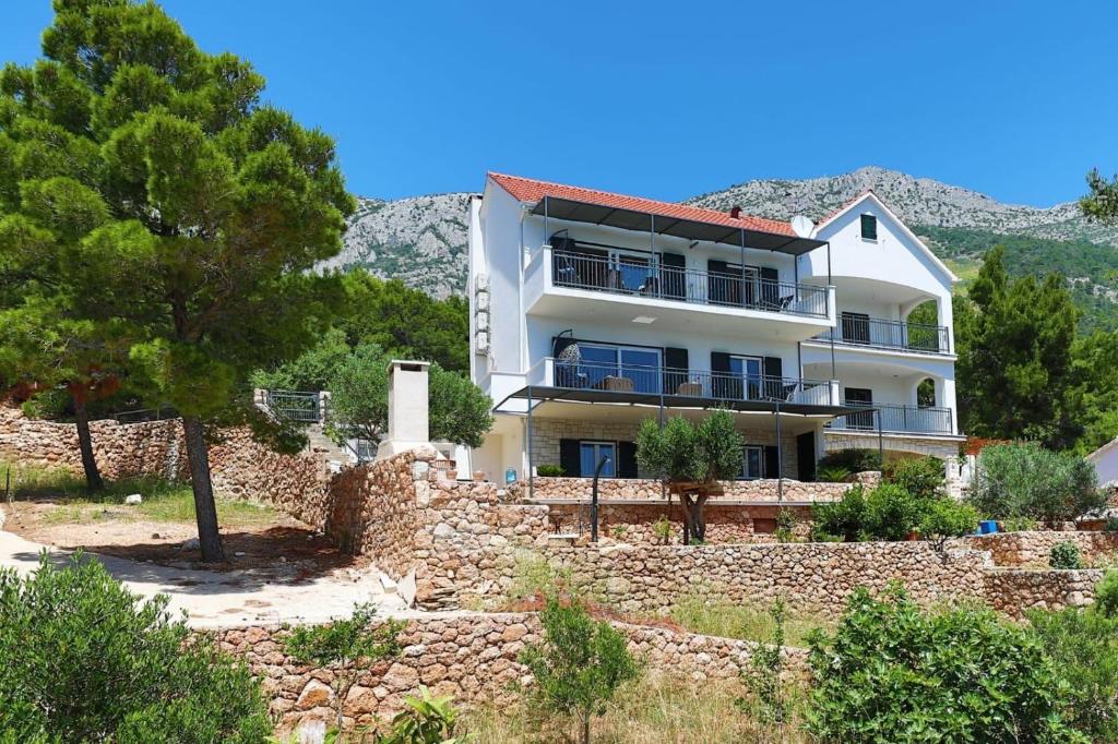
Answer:
<svg viewBox="0 0 1118 744"><path fill-rule="evenodd" d="M189 484L157 477L106 480L105 490L87 494L85 478L66 468L0 462L0 484L11 474L13 500L49 500L57 506L42 512L44 524L86 524L98 521L195 523L195 497ZM0 485L2 488L2 485ZM124 498L140 494L143 502L126 506ZM276 518L271 506L239 499L217 499L222 527L252 527Z"/></svg>

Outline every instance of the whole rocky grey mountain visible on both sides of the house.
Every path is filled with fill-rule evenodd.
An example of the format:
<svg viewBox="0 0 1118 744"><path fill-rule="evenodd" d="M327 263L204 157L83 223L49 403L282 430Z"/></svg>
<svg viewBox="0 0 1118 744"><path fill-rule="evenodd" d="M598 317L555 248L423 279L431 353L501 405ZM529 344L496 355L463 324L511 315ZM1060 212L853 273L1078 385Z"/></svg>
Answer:
<svg viewBox="0 0 1118 744"><path fill-rule="evenodd" d="M1006 204L932 179L883 168L861 168L852 173L802 181L747 181L694 197L688 203L718 210L737 204L762 217L789 219L807 214L818 220L866 189L873 189L934 250L954 261L963 275L976 265L988 246L999 241L999 236L1018 236L1051 241L1040 248L1030 244L1030 250L1049 250L1059 257L1055 267L1045 268L1061 270L1082 285L1080 288L1087 294L1101 298L1114 294L1111 290L1118 292L1118 270L1099 269L1096 250L1107 247L1108 250L1101 251L1102 259L1108 261L1112 254L1114 268L1118 269L1118 250L1110 250L1118 247L1118 228L1088 222L1070 202L1048 208ZM395 201L359 198L360 207L345 235L345 248L322 267L364 266L377 276L400 278L435 297L461 294L465 288L468 201L470 193ZM1086 256L1090 256L1090 261ZM1092 270L1084 271L1087 267Z"/></svg>

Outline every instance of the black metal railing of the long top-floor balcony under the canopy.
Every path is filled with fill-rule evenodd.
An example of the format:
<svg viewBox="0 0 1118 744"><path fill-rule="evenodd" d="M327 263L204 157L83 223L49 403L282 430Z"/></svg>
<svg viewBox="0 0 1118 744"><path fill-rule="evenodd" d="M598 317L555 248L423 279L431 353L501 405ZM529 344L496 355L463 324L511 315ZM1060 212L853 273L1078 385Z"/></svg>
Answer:
<svg viewBox="0 0 1118 744"><path fill-rule="evenodd" d="M557 287L806 317L828 316L826 287L765 279L756 273L701 271L656 266L636 257L604 258L558 249L552 250L551 268Z"/></svg>

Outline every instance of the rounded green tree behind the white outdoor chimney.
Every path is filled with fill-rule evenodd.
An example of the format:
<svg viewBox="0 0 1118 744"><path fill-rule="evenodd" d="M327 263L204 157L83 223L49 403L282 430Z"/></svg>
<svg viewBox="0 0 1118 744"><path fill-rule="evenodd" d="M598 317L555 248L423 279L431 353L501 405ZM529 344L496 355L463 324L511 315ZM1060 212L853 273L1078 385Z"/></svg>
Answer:
<svg viewBox="0 0 1118 744"><path fill-rule="evenodd" d="M378 442L388 433L388 364L391 355L362 344L330 382L328 425L338 439ZM493 403L473 382L432 363L427 378L429 435L436 441L480 447L493 426Z"/></svg>

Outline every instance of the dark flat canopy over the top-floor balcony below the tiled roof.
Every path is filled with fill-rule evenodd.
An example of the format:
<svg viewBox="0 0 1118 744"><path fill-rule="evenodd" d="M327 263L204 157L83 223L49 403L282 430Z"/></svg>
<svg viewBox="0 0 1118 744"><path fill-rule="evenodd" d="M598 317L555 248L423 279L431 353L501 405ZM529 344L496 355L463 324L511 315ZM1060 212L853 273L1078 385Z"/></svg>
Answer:
<svg viewBox="0 0 1118 744"><path fill-rule="evenodd" d="M686 240L704 240L721 242L729 246L773 250L789 256L802 256L826 245L823 240L778 235L762 230L704 222L700 220L665 217L654 212L623 209L596 204L589 201L577 201L558 197L543 197L536 207L533 214L548 219L569 220L571 222L589 222L605 225L623 230L655 231L657 235L669 235ZM550 236L548 236L550 238Z"/></svg>

